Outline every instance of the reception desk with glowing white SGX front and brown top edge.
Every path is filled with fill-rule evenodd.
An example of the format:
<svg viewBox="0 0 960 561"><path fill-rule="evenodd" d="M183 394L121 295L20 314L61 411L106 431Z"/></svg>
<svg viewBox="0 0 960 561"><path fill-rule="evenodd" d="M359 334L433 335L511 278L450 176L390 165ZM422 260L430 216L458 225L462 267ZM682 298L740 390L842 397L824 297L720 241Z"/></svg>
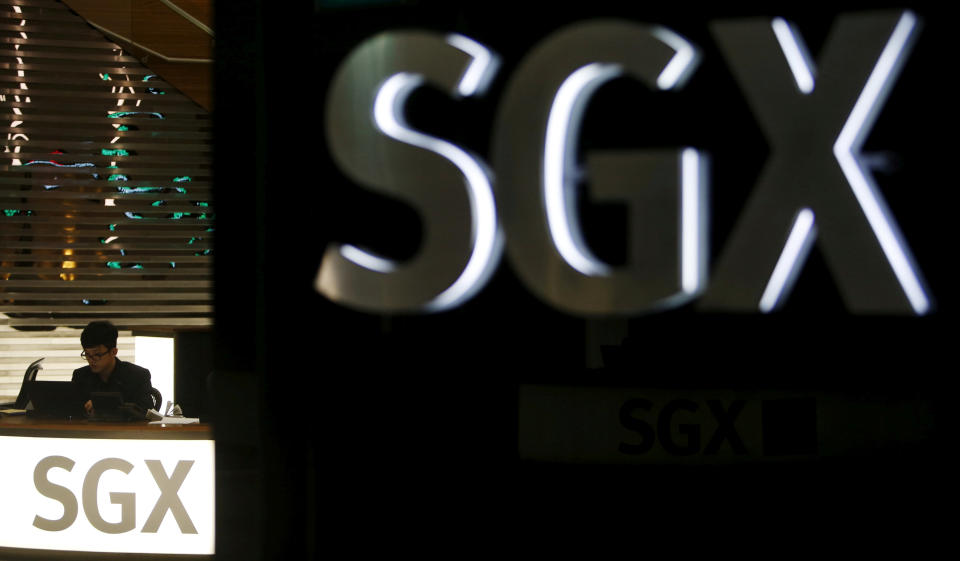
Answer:
<svg viewBox="0 0 960 561"><path fill-rule="evenodd" d="M208 425L0 418L0 553L212 555Z"/></svg>

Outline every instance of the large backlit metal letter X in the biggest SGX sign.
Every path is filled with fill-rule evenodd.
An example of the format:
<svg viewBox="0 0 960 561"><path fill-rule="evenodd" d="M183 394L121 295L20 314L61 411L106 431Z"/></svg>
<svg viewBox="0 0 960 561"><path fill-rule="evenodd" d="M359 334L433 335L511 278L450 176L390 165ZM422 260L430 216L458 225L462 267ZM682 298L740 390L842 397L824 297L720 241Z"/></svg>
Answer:
<svg viewBox="0 0 960 561"><path fill-rule="evenodd" d="M927 313L932 304L921 273L858 160L918 33L916 17L838 17L817 67L799 33L782 19L711 27L771 156L720 255L703 306L776 309L816 239L851 310Z"/></svg>

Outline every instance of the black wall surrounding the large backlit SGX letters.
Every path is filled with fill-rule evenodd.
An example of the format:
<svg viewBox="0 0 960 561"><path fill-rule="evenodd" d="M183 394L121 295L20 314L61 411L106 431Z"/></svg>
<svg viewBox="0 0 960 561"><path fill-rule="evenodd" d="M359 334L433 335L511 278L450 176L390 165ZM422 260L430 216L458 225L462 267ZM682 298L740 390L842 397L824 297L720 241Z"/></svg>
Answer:
<svg viewBox="0 0 960 561"><path fill-rule="evenodd" d="M479 295L435 315L359 313L313 289L331 241L365 242L396 257L419 241L415 212L353 185L325 146L330 76L371 35L458 32L501 55L484 98L454 102L426 90L409 105L412 124L485 158L505 84L551 32L617 17L684 35L704 51L686 87L659 95L626 80L604 87L585 118L581 149L707 150L714 260L769 146L708 22L786 17L816 59L838 13L903 7L924 27L863 151L889 156L874 176L936 301L925 317L850 314L814 248L780 312L707 313L694 304L632 317L629 337L613 350L620 360L590 369L587 322L538 301L506 258ZM470 550L587 541L639 551L651 536L669 541L664 531L693 539L721 530L753 544L761 535L797 543L831 532L875 544L878 536L918 535L926 537L915 547L931 543L945 523L929 515L931 505L953 494L953 15L932 3L885 2L786 2L775 11L605 0L318 0L282 9L218 2L218 557L315 558L334 544L455 555L434 549L454 541ZM636 127L640 137L627 134ZM590 243L613 262L623 252L624 220L616 207L583 209ZM908 446L880 442L849 456L773 464L538 463L517 453L517 391L526 383L919 400L933 408L936 426Z"/></svg>

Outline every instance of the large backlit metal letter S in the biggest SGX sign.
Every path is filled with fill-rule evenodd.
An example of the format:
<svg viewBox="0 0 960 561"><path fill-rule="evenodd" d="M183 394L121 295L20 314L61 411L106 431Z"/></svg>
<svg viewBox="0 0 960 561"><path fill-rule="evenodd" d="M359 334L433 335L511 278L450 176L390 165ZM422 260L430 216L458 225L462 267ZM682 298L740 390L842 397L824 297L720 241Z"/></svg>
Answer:
<svg viewBox="0 0 960 561"><path fill-rule="evenodd" d="M439 311L469 299L495 269L502 236L484 163L463 148L411 128L407 97L433 85L454 97L481 94L496 57L461 35L387 32L357 47L336 73L326 134L352 180L415 207L424 221L417 254L398 262L349 243L323 256L317 290L346 306Z"/></svg>

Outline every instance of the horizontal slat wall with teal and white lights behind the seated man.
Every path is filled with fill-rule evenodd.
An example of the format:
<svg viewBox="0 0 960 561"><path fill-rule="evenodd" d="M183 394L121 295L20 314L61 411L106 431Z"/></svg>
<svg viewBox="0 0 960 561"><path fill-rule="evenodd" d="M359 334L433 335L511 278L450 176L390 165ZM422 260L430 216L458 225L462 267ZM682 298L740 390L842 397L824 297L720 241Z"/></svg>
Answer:
<svg viewBox="0 0 960 561"><path fill-rule="evenodd" d="M0 325L211 325L206 110L60 2L0 0L0 145Z"/></svg>

